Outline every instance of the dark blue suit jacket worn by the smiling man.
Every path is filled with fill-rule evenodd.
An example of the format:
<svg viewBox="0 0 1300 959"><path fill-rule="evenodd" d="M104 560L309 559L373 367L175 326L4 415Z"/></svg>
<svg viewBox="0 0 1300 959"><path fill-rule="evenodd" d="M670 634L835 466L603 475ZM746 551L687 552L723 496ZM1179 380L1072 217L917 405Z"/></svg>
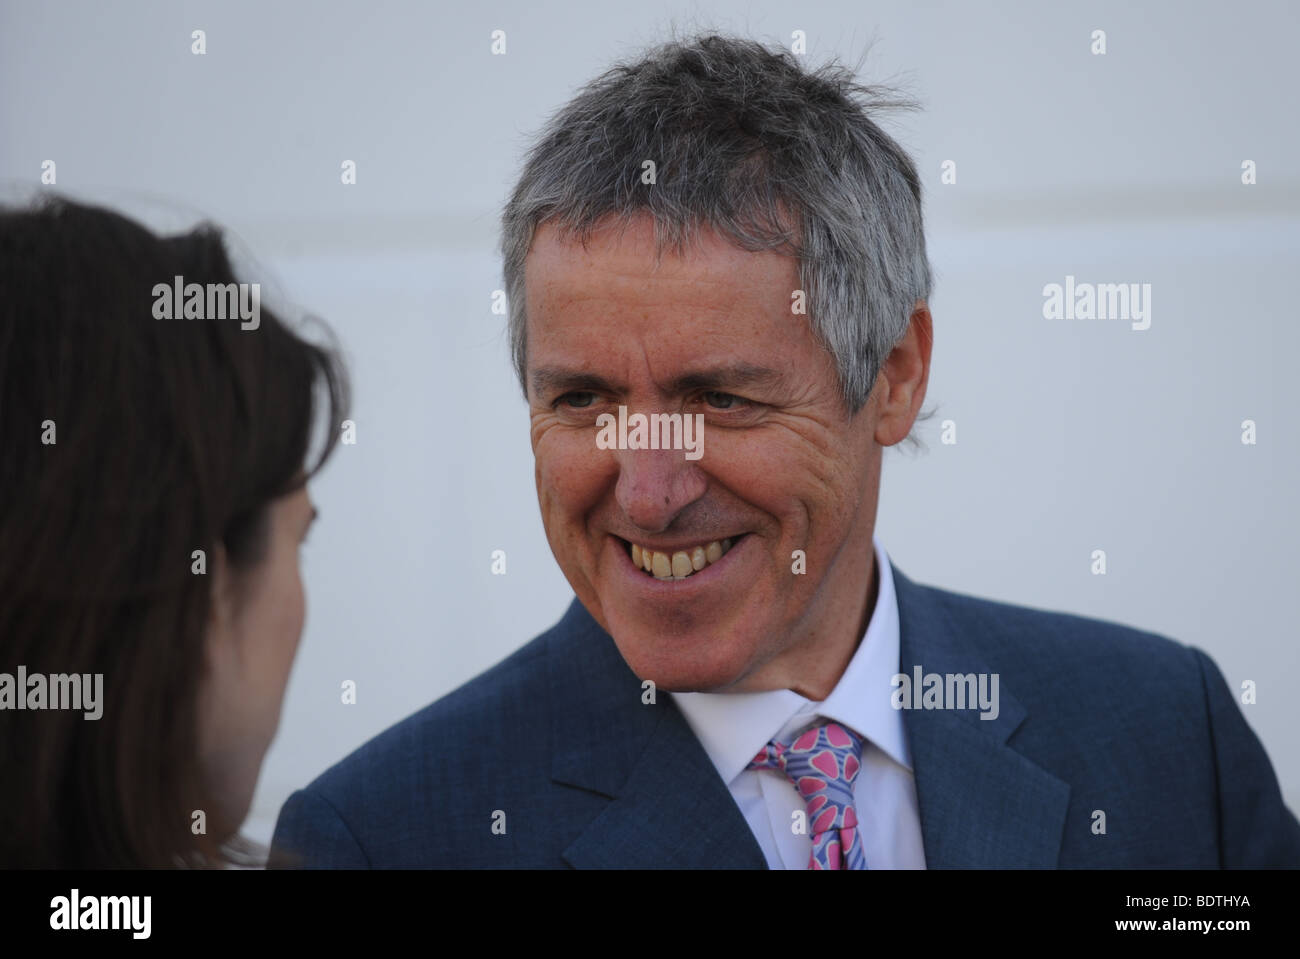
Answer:
<svg viewBox="0 0 1300 959"><path fill-rule="evenodd" d="M930 868L1300 865L1300 824L1204 652L893 574L900 672L1000 677L996 720L904 713ZM766 868L672 697L642 703L577 602L294 793L270 865Z"/></svg>

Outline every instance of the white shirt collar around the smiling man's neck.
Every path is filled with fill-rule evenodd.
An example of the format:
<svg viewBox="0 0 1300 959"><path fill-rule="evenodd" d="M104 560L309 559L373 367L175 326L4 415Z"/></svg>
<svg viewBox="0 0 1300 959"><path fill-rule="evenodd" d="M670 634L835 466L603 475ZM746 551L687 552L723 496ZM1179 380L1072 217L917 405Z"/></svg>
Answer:
<svg viewBox="0 0 1300 959"><path fill-rule="evenodd" d="M875 743L911 769L902 712L890 704L890 680L898 673L898 596L893 569L880 541L872 538L880 587L871 621L840 681L824 702L790 689L762 693L672 693L686 724L731 784L771 739L789 742L814 720L835 720Z"/></svg>

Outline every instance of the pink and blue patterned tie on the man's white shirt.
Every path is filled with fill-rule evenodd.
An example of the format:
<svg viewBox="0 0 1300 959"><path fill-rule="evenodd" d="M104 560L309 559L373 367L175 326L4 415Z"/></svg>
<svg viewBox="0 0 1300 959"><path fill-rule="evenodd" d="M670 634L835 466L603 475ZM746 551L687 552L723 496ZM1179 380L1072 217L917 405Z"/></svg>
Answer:
<svg viewBox="0 0 1300 959"><path fill-rule="evenodd" d="M770 742L748 769L779 769L807 804L812 834L810 869L866 869L853 808L853 781L862 769L862 737L838 722L800 733L789 746Z"/></svg>

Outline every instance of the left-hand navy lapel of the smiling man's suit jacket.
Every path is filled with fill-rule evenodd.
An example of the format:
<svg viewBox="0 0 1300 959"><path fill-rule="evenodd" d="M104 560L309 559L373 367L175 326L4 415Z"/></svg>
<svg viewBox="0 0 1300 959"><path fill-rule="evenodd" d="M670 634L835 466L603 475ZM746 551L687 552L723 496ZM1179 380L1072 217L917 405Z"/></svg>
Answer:
<svg viewBox="0 0 1300 959"><path fill-rule="evenodd" d="M577 868L767 868L727 784L672 702L641 681L577 600L547 643L551 778L604 795L564 850Z"/></svg>

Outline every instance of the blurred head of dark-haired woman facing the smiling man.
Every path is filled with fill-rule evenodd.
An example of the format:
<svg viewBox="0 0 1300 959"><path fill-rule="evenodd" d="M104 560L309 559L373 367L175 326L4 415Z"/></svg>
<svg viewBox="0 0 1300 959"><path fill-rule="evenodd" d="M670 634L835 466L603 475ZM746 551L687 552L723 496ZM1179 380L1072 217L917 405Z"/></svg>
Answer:
<svg viewBox="0 0 1300 959"><path fill-rule="evenodd" d="M99 720L0 712L0 864L213 862L247 812L346 383L211 309L240 279L213 227L0 211L0 672L103 674Z"/></svg>

